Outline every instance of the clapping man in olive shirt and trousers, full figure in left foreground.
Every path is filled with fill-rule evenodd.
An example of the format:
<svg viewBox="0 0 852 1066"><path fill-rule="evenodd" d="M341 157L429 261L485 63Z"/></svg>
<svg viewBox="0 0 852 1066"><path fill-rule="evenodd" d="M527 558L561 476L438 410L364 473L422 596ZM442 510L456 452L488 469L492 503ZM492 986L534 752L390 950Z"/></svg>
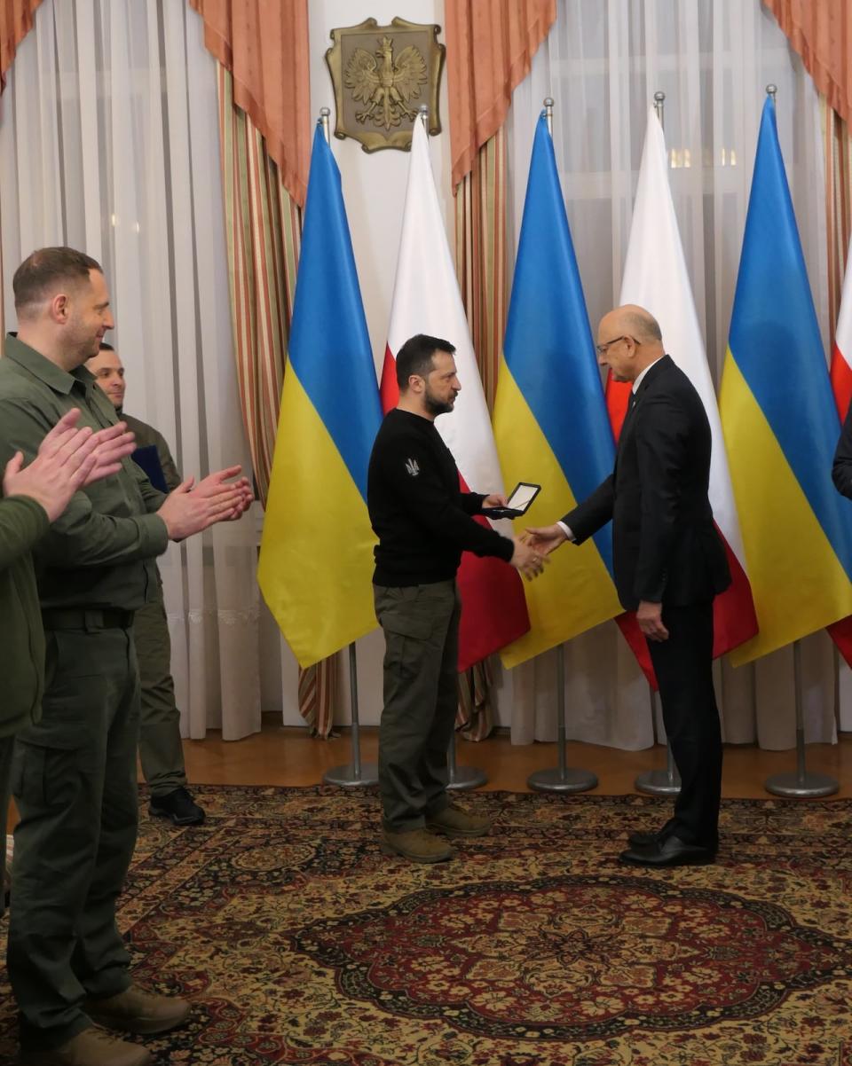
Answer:
<svg viewBox="0 0 852 1066"><path fill-rule="evenodd" d="M33 455L69 408L100 430L115 411L83 364L112 328L99 264L42 248L13 278L18 336L0 359L0 463ZM251 502L239 467L164 496L129 458L77 492L33 549L46 637L42 721L18 734L9 975L22 1064L144 1066L130 1033L181 1024L189 1003L133 985L115 902L136 836L139 678L133 612L156 595L154 560Z"/></svg>

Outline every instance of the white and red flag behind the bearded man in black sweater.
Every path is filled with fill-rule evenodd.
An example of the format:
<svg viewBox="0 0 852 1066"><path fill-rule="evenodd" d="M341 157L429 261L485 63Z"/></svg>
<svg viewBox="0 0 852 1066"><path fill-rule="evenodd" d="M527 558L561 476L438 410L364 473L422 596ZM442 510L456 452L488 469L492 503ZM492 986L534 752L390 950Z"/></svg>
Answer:
<svg viewBox="0 0 852 1066"><path fill-rule="evenodd" d="M385 411L395 407L399 399L396 354L415 334L441 337L455 346L462 391L454 411L443 415L435 425L459 467L462 490L501 492L503 483L488 407L444 228L427 132L419 120L414 124L412 138L402 238L382 371ZM484 518L477 521L486 523ZM495 524L500 529L500 523ZM510 532L507 522L505 533ZM459 569L459 589L462 596L459 669L464 671L526 633L530 620L520 577L499 559L480 559L466 551Z"/></svg>

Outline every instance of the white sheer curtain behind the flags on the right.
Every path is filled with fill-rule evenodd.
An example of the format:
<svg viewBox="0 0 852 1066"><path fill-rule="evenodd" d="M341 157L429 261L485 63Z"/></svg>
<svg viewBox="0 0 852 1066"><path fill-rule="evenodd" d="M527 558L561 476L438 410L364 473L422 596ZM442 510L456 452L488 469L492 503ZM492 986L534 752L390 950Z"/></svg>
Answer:
<svg viewBox="0 0 852 1066"><path fill-rule="evenodd" d="M594 330L618 302L647 110L657 90L665 93L672 190L717 383L769 82L778 88L782 149L825 335L819 101L758 0L560 0L556 26L510 111L509 201L517 238L534 122L545 96L556 101L553 143ZM512 672L519 743L554 736L552 658ZM566 646L566 674L572 738L625 748L653 742L648 689L614 624ZM824 632L802 642L801 689L807 739L833 740L836 669ZM850 714L848 687L840 691L850 704L841 710ZM793 745L791 649L739 669L717 664L717 695L728 742Z"/></svg>

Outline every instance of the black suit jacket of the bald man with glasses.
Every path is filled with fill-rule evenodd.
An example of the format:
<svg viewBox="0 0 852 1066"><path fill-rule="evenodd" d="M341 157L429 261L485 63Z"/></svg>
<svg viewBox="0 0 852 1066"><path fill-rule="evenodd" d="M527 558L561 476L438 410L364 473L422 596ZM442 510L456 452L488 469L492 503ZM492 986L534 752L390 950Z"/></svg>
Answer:
<svg viewBox="0 0 852 1066"><path fill-rule="evenodd" d="M615 587L626 610L640 600L707 601L730 583L707 497L710 446L698 393L663 356L637 389L612 474L562 519L577 544L612 519Z"/></svg>

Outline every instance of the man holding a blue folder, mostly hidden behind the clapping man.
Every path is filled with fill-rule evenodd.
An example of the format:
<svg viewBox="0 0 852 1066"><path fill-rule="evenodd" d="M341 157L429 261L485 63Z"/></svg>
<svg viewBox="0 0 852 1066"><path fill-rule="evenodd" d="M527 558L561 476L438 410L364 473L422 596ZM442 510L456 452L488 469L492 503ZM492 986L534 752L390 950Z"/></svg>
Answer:
<svg viewBox="0 0 852 1066"><path fill-rule="evenodd" d="M95 381L107 393L118 417L127 422L136 447L143 450L134 453L136 462L155 485L157 480L160 481L159 488L170 492L177 488L181 478L163 435L122 409L126 389L125 368L115 349L101 341L100 351L86 362L86 369L95 375ZM154 459L157 468L154 471L140 457L146 452L152 453L149 461ZM142 773L150 789L148 811L158 818L170 819L175 825L198 825L204 822L204 810L187 788L187 769L180 743L180 711L175 702L175 682L172 679L172 642L159 569L157 596L136 611L133 640L142 688L139 755Z"/></svg>

